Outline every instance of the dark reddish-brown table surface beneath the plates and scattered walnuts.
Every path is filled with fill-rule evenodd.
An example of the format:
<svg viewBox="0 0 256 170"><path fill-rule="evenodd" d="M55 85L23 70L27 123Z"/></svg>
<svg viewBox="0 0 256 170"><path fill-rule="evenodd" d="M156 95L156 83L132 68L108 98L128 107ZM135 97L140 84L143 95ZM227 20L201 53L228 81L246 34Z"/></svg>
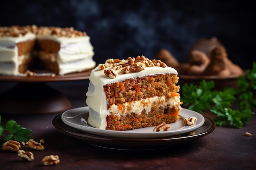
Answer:
<svg viewBox="0 0 256 170"><path fill-rule="evenodd" d="M0 94L15 85L0 82ZM88 80L74 82L49 82L47 85L63 93L72 108L83 107ZM40 96L38 96L40 97ZM15 107L15 106L13 106ZM92 146L85 141L67 136L57 130L52 120L59 113L17 115L1 113L2 125L14 119L22 127L32 130L31 136L45 139L45 150L32 151L34 161L25 162L17 153L0 150L0 170L255 170L256 169L256 116L243 128L216 127L209 135L192 141L172 144L159 150L113 150ZM204 116L213 118L211 113ZM252 133L252 137L245 136ZM0 144L4 137L0 137ZM24 147L24 146L22 146ZM43 166L46 155L58 155L60 163Z"/></svg>

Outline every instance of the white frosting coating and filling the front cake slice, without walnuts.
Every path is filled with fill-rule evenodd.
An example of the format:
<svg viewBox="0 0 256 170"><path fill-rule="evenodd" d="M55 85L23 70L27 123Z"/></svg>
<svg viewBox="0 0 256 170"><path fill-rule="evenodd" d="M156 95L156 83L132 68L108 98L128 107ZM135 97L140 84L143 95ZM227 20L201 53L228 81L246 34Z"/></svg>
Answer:
<svg viewBox="0 0 256 170"><path fill-rule="evenodd" d="M105 68L105 69L110 69ZM104 74L103 70L98 70L98 68L95 68L92 70L92 73L90 75L90 84L88 88L88 92L86 93L87 99L86 104L89 106L89 118L88 123L94 127L106 129L106 117L111 112L116 112L121 115L121 110L118 109L117 106L112 106L110 110L107 110L107 100L106 100L106 94L103 90L103 86L110 83L119 82L124 79L131 79L131 78L137 78L144 75L155 75L155 74L161 74L161 73L174 73L177 74L177 71L174 68L171 67L146 67L145 70L137 72L137 73L128 73L128 74L119 74L114 79L111 79L107 77ZM148 112L151 109L151 105L153 102L165 102L166 104L170 104L170 107L173 106L173 104L180 104L180 99L178 97L172 98L168 101L165 100L165 97L153 97L150 99L145 99L146 102L148 102L148 105L144 107L141 101L132 102L133 104L133 110L130 110L130 113L134 112L136 114L139 114L142 110L146 110ZM129 103L130 104L130 103ZM124 104L123 108L126 108L128 104Z"/></svg>

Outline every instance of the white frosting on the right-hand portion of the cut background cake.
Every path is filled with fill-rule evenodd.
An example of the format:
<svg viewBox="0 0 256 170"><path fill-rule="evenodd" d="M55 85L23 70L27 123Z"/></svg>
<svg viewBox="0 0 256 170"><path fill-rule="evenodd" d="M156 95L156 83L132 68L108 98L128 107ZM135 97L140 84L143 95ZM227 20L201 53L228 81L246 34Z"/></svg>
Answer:
<svg viewBox="0 0 256 170"><path fill-rule="evenodd" d="M90 37L57 37L50 35L38 35L38 40L53 40L60 43L60 50L57 54L45 55L39 53L40 59L51 57L52 62L59 65L59 75L66 73L80 72L85 69L93 68L96 62L92 59L94 56L93 46L90 43Z"/></svg>

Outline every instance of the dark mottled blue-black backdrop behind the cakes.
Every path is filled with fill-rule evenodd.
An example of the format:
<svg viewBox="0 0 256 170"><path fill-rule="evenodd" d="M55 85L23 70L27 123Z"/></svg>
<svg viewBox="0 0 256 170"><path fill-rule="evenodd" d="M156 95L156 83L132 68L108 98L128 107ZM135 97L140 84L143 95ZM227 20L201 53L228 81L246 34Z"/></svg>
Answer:
<svg viewBox="0 0 256 170"><path fill-rule="evenodd" d="M162 48L179 62L187 62L196 40L215 36L231 61L249 69L256 60L252 2L0 0L0 26L72 26L91 37L97 63L137 55L153 59Z"/></svg>

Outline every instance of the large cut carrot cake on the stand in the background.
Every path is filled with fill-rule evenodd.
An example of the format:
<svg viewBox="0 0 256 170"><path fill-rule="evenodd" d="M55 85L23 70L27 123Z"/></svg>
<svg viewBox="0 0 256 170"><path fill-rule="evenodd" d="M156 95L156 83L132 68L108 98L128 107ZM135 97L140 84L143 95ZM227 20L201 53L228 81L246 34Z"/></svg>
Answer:
<svg viewBox="0 0 256 170"><path fill-rule="evenodd" d="M32 66L57 75L86 71L96 65L93 56L90 37L72 27L0 27L2 75L22 75Z"/></svg>

